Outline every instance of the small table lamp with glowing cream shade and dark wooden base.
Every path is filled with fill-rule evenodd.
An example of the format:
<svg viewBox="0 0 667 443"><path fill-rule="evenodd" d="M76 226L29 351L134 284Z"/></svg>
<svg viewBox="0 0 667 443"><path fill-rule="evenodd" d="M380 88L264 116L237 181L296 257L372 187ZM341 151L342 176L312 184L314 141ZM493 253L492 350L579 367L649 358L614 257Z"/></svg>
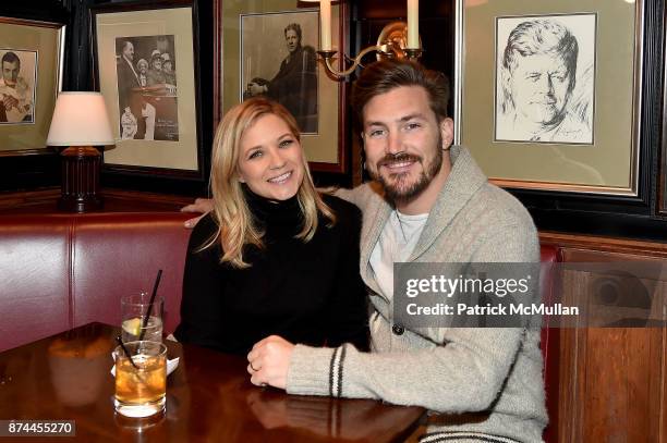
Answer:
<svg viewBox="0 0 667 443"><path fill-rule="evenodd" d="M60 93L47 137L48 146L68 146L60 152L60 210L87 212L102 207L99 195L101 155L96 146L113 144L100 93Z"/></svg>

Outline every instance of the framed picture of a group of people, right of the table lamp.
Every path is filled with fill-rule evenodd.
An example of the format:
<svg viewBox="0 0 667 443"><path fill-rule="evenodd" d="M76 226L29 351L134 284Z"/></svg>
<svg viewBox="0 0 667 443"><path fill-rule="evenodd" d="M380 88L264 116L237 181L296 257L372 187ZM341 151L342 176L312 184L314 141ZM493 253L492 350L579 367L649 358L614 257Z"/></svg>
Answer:
<svg viewBox="0 0 667 443"><path fill-rule="evenodd" d="M92 9L94 71L116 139L105 171L204 176L194 8L170 0Z"/></svg>

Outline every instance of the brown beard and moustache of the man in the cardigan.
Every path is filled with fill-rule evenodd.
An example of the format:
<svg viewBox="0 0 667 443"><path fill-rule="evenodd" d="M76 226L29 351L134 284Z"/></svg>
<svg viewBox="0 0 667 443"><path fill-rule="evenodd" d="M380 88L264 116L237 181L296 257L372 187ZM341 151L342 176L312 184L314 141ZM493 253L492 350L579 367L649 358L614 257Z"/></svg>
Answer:
<svg viewBox="0 0 667 443"><path fill-rule="evenodd" d="M380 174L380 168L387 163L399 163L402 161L414 161L422 164L422 172L417 180L410 184L404 185L403 182L410 176L409 172L401 172L397 174L389 174L390 181ZM433 181L442 167L442 137L438 135L438 145L436 147L436 155L429 164L424 164L424 159L420 156L411 153L399 152L397 156L386 155L383 159L377 162L377 170L373 179L377 180L385 189L387 198L396 202L408 202L413 198L417 197Z"/></svg>

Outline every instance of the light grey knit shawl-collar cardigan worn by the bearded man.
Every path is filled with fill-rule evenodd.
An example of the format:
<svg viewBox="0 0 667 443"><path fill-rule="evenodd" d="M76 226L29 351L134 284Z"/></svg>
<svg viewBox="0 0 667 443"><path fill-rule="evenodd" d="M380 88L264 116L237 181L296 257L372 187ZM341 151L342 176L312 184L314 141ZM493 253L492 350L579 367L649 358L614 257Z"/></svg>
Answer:
<svg viewBox="0 0 667 443"><path fill-rule="evenodd" d="M539 247L525 208L489 184L470 152L450 150L453 163L409 261L536 262ZM539 330L422 328L392 331L391 300L380 294L368 260L391 212L377 184L339 196L363 211L361 274L368 286L372 353L351 345L296 345L287 392L383 398L446 413L427 431L454 432L447 442L483 440L474 433L539 442L547 422ZM472 434L471 434L472 433ZM465 436L469 435L469 436ZM428 441L445 441L432 435ZM481 440L477 440L482 438Z"/></svg>

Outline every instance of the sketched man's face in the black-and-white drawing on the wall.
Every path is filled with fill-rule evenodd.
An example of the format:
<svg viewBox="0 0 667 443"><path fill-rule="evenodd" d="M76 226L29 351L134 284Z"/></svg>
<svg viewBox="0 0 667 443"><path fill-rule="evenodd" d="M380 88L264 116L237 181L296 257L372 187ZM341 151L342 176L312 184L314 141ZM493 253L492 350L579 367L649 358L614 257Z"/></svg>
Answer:
<svg viewBox="0 0 667 443"><path fill-rule="evenodd" d="M533 54L518 58L509 78L517 112L530 122L559 123L570 98L572 76L560 56Z"/></svg>

